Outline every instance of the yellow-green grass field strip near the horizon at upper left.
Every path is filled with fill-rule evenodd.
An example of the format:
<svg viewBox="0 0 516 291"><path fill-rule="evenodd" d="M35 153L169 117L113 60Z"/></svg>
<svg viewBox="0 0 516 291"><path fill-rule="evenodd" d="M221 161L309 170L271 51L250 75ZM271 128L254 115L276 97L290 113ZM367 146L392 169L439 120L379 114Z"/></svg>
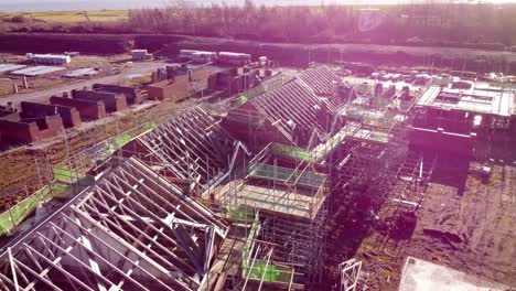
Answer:
<svg viewBox="0 0 516 291"><path fill-rule="evenodd" d="M82 22L82 21L119 21L129 18L128 10L101 10L101 11L55 11L55 12L23 12L0 13L0 18L23 17L26 19L42 20L46 22Z"/></svg>

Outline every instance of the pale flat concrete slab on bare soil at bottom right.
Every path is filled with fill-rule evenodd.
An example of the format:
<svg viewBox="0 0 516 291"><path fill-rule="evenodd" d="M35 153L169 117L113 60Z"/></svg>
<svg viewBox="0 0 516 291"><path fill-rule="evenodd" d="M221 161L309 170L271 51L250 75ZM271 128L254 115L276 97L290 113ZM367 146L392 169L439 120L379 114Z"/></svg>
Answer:
<svg viewBox="0 0 516 291"><path fill-rule="evenodd" d="M432 262L407 257L399 291L503 291L509 288Z"/></svg>

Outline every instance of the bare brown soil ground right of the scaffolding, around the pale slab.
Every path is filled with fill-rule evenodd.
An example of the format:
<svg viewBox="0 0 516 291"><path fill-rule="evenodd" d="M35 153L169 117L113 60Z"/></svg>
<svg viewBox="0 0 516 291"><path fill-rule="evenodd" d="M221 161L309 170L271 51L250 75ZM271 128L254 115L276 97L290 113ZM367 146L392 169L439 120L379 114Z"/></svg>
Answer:
<svg viewBox="0 0 516 291"><path fill-rule="evenodd" d="M516 164L493 160L487 182L467 172L475 162L443 158L418 212L415 228L387 227L391 205L380 208L378 223L361 220L338 207L329 222L327 257L321 288L338 282L337 265L363 261L365 290L397 290L407 256L516 287ZM389 194L396 197L396 186ZM344 197L336 203L347 203Z"/></svg>

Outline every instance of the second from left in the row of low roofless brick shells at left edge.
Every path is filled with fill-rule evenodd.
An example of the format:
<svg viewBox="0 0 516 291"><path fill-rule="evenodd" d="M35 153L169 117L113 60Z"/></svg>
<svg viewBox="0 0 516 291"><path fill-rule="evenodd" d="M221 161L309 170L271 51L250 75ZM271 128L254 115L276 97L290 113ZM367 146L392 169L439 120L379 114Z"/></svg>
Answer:
<svg viewBox="0 0 516 291"><path fill-rule="evenodd" d="M73 107L23 101L21 103L21 118L23 119L58 115L66 128L78 127L82 121L79 112Z"/></svg>

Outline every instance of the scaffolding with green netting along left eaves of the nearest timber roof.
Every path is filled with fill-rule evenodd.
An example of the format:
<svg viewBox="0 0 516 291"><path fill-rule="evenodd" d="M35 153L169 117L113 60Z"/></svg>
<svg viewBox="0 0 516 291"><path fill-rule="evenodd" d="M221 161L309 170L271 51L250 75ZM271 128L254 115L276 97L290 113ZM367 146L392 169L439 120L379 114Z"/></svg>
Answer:
<svg viewBox="0 0 516 291"><path fill-rule="evenodd" d="M142 122L73 154L68 150L66 131L63 131L65 157L51 159L49 150L44 148L44 153L34 158L35 174L0 195L0 203L7 208L0 214L0 235L11 235L44 203L78 194L95 181L98 165L132 138L152 130L155 126L153 122Z"/></svg>

